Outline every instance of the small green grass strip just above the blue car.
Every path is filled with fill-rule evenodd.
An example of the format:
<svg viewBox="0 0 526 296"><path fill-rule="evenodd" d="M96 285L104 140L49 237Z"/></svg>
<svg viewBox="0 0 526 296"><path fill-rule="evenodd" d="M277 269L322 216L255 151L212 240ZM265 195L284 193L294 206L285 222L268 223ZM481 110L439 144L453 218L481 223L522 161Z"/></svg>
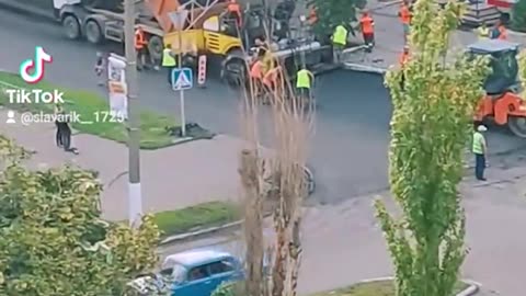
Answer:
<svg viewBox="0 0 526 296"><path fill-rule="evenodd" d="M238 206L229 202L209 202L155 214L155 220L163 237L219 226L239 218Z"/></svg>

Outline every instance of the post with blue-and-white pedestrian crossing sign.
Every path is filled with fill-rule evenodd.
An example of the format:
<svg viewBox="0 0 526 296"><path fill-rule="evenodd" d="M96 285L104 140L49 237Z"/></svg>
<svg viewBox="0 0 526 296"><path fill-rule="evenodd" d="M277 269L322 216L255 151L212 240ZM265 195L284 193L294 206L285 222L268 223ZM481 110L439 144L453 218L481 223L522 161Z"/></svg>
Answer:
<svg viewBox="0 0 526 296"><path fill-rule="evenodd" d="M179 91L179 100L181 107L181 136L186 137L186 114L184 112L184 90L193 87L192 70L183 68L183 29L188 16L188 11L179 9L178 11L169 13L170 20L175 30L178 30L178 68L172 71L172 88ZM173 46L172 46L173 48ZM190 70L190 75L187 73Z"/></svg>

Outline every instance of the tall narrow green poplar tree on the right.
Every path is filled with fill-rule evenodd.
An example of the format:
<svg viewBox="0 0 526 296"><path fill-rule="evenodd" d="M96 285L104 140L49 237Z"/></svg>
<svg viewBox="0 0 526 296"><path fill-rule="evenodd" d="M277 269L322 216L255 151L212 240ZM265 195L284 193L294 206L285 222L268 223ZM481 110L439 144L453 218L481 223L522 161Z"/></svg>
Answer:
<svg viewBox="0 0 526 296"><path fill-rule="evenodd" d="M393 104L389 182L402 216L396 219L381 201L376 209L398 296L453 295L467 254L457 186L489 68L484 58L447 56L464 11L455 1L444 10L433 0L416 1L410 61L386 75Z"/></svg>

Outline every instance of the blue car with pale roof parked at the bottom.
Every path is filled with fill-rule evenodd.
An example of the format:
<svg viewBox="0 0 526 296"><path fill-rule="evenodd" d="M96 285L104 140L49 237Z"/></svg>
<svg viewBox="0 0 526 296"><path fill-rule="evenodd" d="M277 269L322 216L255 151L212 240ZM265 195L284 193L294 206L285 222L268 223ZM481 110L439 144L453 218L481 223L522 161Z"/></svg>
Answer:
<svg viewBox="0 0 526 296"><path fill-rule="evenodd" d="M244 278L242 263L227 252L195 250L169 255L161 266L172 296L210 296L224 282Z"/></svg>

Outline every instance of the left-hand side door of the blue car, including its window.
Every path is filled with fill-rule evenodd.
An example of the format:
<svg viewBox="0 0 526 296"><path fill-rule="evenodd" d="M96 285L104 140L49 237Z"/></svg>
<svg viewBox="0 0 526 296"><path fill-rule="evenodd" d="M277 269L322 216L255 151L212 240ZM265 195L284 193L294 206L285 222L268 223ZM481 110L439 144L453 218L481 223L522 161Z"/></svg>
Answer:
<svg viewBox="0 0 526 296"><path fill-rule="evenodd" d="M186 281L173 291L176 296L209 296L210 276L208 264L192 267Z"/></svg>

